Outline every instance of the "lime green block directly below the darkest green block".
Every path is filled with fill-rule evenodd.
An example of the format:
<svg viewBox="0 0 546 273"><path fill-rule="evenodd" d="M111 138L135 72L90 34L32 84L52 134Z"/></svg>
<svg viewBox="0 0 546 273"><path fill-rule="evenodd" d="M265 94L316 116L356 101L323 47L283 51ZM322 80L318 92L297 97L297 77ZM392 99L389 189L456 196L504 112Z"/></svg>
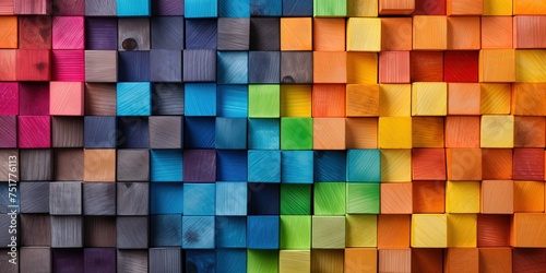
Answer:
<svg viewBox="0 0 546 273"><path fill-rule="evenodd" d="M311 216L281 215L281 249L311 248Z"/></svg>

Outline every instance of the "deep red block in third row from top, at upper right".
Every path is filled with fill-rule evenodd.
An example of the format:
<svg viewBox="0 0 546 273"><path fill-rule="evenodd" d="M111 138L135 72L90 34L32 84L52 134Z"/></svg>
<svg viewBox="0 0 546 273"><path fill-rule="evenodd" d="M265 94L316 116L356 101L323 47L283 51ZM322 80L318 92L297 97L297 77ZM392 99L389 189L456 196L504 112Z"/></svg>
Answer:
<svg viewBox="0 0 546 273"><path fill-rule="evenodd" d="M446 82L478 81L477 51L446 51L444 63Z"/></svg>

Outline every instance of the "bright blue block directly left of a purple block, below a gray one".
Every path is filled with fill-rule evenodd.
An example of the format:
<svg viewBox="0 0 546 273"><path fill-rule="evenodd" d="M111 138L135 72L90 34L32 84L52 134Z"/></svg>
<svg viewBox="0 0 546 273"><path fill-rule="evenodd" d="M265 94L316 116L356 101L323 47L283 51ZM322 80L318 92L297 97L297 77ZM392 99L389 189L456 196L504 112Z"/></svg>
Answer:
<svg viewBox="0 0 546 273"><path fill-rule="evenodd" d="M152 181L182 181L182 151L152 150Z"/></svg>

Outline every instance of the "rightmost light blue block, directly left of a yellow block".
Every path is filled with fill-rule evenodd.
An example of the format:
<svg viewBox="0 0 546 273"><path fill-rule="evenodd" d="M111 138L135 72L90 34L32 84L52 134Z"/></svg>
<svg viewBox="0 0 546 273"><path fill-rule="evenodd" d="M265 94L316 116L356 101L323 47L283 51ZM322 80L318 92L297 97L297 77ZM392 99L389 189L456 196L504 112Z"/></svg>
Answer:
<svg viewBox="0 0 546 273"><path fill-rule="evenodd" d="M347 181L381 181L379 150L349 150L347 152Z"/></svg>

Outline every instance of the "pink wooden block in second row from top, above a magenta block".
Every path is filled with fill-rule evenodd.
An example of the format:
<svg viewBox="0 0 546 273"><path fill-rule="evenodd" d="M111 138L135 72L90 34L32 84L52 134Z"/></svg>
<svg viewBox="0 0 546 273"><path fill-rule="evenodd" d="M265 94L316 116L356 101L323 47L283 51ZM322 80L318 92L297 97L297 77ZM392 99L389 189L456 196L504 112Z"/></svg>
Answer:
<svg viewBox="0 0 546 273"><path fill-rule="evenodd" d="M54 49L84 49L83 16L54 16Z"/></svg>

